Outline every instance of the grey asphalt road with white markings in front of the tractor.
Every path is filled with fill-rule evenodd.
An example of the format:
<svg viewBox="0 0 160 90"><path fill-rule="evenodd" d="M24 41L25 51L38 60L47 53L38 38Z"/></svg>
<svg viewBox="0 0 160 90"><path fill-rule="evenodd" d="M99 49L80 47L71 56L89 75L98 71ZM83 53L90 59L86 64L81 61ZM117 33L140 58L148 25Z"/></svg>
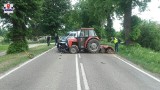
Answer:
<svg viewBox="0 0 160 90"><path fill-rule="evenodd" d="M113 54L54 48L0 77L0 90L160 90L158 78Z"/></svg>

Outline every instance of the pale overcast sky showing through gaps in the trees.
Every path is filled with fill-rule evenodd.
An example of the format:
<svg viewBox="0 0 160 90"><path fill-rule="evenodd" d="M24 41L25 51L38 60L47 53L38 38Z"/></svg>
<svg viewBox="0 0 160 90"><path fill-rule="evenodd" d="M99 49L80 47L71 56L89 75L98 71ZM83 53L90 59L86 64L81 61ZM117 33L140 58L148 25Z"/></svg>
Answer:
<svg viewBox="0 0 160 90"><path fill-rule="evenodd" d="M71 0L72 5L76 2L77 0ZM132 11L132 13L133 15L138 15L141 19L157 21L158 23L160 23L160 8L158 7L160 7L160 0L151 0L151 2L148 3L146 11L139 12L138 8L136 8ZM122 21L114 20L113 26L116 29L116 31L122 29L120 23L122 23Z"/></svg>

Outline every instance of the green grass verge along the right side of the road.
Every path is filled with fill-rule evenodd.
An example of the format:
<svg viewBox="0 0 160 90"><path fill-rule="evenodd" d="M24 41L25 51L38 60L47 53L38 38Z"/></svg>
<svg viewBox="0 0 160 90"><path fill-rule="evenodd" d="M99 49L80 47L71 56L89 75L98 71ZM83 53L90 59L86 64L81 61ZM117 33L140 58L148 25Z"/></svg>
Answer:
<svg viewBox="0 0 160 90"><path fill-rule="evenodd" d="M120 45L118 54L146 70L160 74L160 52L140 46Z"/></svg>

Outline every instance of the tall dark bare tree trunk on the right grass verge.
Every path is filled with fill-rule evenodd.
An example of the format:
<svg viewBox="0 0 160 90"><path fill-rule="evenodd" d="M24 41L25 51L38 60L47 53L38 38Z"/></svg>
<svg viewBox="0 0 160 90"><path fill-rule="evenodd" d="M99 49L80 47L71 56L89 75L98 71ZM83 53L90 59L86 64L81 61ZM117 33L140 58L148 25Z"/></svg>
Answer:
<svg viewBox="0 0 160 90"><path fill-rule="evenodd" d="M131 43L130 32L131 32L132 0L126 4L127 8L125 8L124 11L123 27L125 30L125 43L126 45L129 45Z"/></svg>

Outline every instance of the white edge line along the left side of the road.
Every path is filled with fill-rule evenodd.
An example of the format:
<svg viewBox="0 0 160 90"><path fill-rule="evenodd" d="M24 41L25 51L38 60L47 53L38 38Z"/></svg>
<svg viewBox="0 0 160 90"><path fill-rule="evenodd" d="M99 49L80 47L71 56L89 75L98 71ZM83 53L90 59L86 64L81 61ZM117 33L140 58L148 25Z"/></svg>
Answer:
<svg viewBox="0 0 160 90"><path fill-rule="evenodd" d="M55 48L55 47L54 47L54 48ZM52 48L52 49L53 49L53 48ZM9 72L7 72L6 74L2 75L2 76L0 77L0 80L3 79L3 78L5 78L5 77L8 76L9 74L13 73L14 71L20 69L21 67L25 66L26 64L32 62L32 61L35 60L36 58L38 58L38 57L42 56L43 54L49 52L49 51L52 50L52 49L49 49L48 51L46 51L46 52L44 52L44 53L42 53L42 54L36 56L36 57L33 58L33 59L30 59L29 61L26 61L25 63L21 64L20 66L18 66L18 67L16 67L16 68L12 69L11 71L9 71Z"/></svg>

